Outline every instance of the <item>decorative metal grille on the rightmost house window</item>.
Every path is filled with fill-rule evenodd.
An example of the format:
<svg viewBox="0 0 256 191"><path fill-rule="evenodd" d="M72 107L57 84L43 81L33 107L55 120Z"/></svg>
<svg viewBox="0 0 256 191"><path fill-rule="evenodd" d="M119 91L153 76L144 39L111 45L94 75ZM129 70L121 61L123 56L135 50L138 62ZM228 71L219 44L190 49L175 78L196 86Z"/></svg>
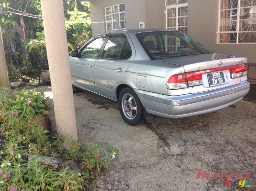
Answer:
<svg viewBox="0 0 256 191"><path fill-rule="evenodd" d="M218 43L256 43L256 0L219 0Z"/></svg>

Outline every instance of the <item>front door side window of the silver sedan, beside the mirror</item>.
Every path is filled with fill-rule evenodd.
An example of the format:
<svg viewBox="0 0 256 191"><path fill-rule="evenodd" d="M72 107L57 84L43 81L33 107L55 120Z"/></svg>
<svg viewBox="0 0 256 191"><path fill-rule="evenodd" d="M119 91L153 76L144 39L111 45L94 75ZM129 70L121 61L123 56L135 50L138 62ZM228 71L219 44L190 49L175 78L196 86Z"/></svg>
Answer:
<svg viewBox="0 0 256 191"><path fill-rule="evenodd" d="M80 54L81 57L90 57L90 58L98 58L100 48L102 44L104 43L106 37L103 38L96 38L93 41L91 41L87 46L85 46Z"/></svg>

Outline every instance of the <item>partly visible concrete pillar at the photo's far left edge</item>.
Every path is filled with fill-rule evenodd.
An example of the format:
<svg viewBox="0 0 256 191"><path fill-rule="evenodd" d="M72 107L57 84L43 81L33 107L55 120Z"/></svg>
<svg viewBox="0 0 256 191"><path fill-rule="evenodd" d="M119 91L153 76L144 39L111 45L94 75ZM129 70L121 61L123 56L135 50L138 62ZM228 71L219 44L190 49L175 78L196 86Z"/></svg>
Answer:
<svg viewBox="0 0 256 191"><path fill-rule="evenodd" d="M4 54L4 44L3 44L1 26L0 26L0 86L6 87L6 88L10 87L5 54Z"/></svg>

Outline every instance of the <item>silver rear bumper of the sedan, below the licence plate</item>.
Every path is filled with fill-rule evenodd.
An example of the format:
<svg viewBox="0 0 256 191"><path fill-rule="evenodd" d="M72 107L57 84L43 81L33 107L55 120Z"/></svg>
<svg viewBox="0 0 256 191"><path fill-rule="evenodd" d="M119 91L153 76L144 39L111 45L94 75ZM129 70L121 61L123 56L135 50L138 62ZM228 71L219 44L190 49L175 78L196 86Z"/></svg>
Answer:
<svg viewBox="0 0 256 191"><path fill-rule="evenodd" d="M249 89L250 83L244 81L236 86L182 96L166 96L142 90L134 91L148 113L182 118L228 107L243 99Z"/></svg>

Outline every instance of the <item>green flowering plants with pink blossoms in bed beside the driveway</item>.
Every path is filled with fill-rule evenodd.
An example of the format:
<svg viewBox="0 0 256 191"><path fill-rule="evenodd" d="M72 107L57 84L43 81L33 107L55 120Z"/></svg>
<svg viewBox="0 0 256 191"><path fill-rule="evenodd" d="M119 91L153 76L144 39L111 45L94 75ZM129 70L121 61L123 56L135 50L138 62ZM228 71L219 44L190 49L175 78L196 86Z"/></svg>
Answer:
<svg viewBox="0 0 256 191"><path fill-rule="evenodd" d="M85 148L61 135L49 138L38 123L30 123L36 112L48 111L47 99L35 90L25 94L0 88L1 190L86 190L118 156L114 147L106 155L97 145L88 143ZM65 165L66 160L73 166Z"/></svg>

